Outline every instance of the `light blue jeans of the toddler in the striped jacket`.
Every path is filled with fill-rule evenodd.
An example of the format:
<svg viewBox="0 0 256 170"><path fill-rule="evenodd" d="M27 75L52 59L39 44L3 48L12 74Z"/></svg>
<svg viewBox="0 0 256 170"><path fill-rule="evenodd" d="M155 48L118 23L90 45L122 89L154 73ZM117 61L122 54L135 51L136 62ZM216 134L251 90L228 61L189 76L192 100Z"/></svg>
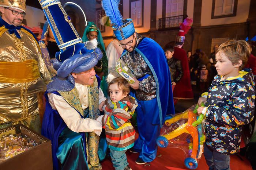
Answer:
<svg viewBox="0 0 256 170"><path fill-rule="evenodd" d="M115 151L110 150L110 157L113 163L115 170L124 170L125 167L128 166L127 157L125 151Z"/></svg>

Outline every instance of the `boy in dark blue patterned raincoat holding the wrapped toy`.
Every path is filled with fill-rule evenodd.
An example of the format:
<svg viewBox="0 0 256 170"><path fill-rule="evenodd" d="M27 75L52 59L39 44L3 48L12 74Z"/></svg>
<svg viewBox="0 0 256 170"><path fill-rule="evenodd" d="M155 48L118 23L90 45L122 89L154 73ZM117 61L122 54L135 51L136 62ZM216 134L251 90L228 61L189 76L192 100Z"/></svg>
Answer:
<svg viewBox="0 0 256 170"><path fill-rule="evenodd" d="M209 169L230 169L230 154L240 149L242 126L254 116L255 89L252 71L240 71L251 47L244 40L229 40L218 47L216 70L208 94L204 93L197 112L205 116L204 157Z"/></svg>

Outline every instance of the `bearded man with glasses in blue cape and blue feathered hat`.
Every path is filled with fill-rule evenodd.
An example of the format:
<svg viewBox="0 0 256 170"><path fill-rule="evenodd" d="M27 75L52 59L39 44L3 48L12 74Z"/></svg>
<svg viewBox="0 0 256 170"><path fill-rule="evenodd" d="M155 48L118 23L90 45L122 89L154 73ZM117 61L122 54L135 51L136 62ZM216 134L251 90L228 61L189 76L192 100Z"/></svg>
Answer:
<svg viewBox="0 0 256 170"><path fill-rule="evenodd" d="M174 114L169 67L161 46L136 33L132 19L123 19L118 12L118 1L102 0L102 7L112 22L119 45L124 49L120 59L135 75L135 83L130 86L138 101L139 138L130 151L140 152L135 162L143 165L157 156L156 140L165 116Z"/></svg>

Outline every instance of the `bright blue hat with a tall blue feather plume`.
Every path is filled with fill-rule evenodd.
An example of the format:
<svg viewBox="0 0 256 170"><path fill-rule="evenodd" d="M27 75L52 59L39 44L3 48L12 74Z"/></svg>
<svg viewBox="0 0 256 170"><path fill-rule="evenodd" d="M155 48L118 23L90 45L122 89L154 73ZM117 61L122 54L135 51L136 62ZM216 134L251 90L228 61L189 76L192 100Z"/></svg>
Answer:
<svg viewBox="0 0 256 170"><path fill-rule="evenodd" d="M124 40L134 34L135 29L131 18L123 19L118 9L119 2L120 0L102 0L102 8L111 20L116 38Z"/></svg>

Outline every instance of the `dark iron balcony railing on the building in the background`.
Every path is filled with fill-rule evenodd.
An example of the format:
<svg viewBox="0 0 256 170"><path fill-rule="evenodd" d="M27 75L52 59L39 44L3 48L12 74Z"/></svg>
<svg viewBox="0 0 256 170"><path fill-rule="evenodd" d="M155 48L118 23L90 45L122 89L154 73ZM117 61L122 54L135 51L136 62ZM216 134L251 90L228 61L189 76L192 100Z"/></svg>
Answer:
<svg viewBox="0 0 256 170"><path fill-rule="evenodd" d="M187 15L178 15L178 16L171 16L166 18L159 18L158 20L158 29L166 29L172 27L180 26L180 23L187 18Z"/></svg>

